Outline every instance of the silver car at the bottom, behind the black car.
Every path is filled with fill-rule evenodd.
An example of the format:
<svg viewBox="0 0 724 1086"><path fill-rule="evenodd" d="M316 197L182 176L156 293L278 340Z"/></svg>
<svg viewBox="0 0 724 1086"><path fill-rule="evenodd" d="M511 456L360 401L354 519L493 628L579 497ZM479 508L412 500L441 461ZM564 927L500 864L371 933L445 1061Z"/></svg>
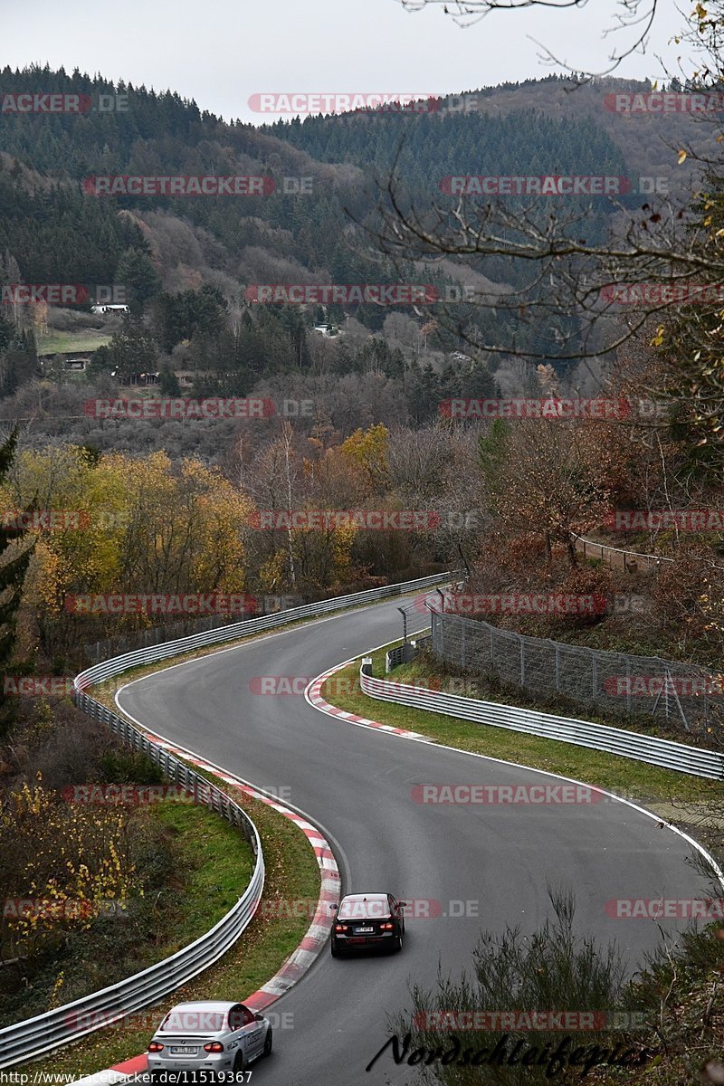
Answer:
<svg viewBox="0 0 724 1086"><path fill-rule="evenodd" d="M149 1077L152 1083L180 1078L196 1086L216 1076L231 1082L232 1072L238 1074L270 1051L271 1023L243 1003L179 1003L149 1045Z"/></svg>

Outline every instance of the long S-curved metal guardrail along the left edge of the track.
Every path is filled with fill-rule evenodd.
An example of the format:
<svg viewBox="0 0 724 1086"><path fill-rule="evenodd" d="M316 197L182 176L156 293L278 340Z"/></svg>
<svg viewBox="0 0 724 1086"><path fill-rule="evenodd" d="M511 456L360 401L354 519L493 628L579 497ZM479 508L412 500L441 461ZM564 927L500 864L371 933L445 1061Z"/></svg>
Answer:
<svg viewBox="0 0 724 1086"><path fill-rule="evenodd" d="M139 732L129 721L124 720L100 702L85 694L84 690L93 683L102 682L139 665L153 664L205 645L232 641L274 627L284 626L295 619L312 618L329 611L353 607L356 604L372 603L376 599L414 592L416 589L430 588L444 583L449 578L449 573L435 573L432 577L418 578L416 581L386 584L380 589L336 596L333 599L306 604L291 610L278 611L275 615L234 622L231 626L207 630L189 637L125 653L87 668L76 675L75 700L78 708L107 725L115 735L128 743L135 750L147 754L174 783L193 792L198 798L203 797L203 801L212 810L217 811L232 825L239 826L254 849L256 864L249 886L233 908L209 932L206 932L188 947L183 947L170 958L150 965L142 972L107 988L93 992L55 1010L47 1011L0 1030L0 1069L26 1062L62 1045L79 1040L96 1030L122 1019L125 1014L156 1003L164 996L186 984L208 965L212 965L232 946L251 922L264 888L264 856L258 833L243 808L173 754L164 750L152 738Z"/></svg>

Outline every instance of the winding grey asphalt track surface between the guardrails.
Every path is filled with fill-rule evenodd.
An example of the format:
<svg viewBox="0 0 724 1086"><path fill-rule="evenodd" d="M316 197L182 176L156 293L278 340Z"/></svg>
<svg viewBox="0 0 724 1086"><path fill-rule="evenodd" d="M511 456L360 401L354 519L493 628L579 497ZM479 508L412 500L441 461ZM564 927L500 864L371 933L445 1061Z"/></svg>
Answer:
<svg viewBox="0 0 724 1086"><path fill-rule="evenodd" d="M270 1008L291 1012L293 1028L278 1030L274 1056L253 1065L252 1081L264 1086L416 1082L417 1072L396 1066L389 1055L365 1072L390 1036L388 1015L410 1008L410 983L432 987L439 964L454 975L470 970L481 927L538 926L549 914L548 884L574 889L577 929L615 938L632 968L657 944L657 925L609 918L605 902L690 898L706 888L685 862L691 847L623 804L421 805L411 790L422 783L555 782L355 727L302 695L251 692L254 677L314 677L398 637L397 606L271 634L149 675L119 695L125 710L169 741L259 787L291 790L291 803L332 843L343 893L389 891L440 902L440 915L407 921L402 954L320 955ZM673 929L677 922L662 923Z"/></svg>

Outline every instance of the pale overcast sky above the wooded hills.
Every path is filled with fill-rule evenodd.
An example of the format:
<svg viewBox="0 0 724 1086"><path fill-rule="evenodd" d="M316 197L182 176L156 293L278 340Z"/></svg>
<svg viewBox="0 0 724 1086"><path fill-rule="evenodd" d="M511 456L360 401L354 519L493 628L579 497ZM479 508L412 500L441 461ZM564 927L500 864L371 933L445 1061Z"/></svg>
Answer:
<svg viewBox="0 0 724 1086"><path fill-rule="evenodd" d="M589 0L580 10L494 12L460 29L442 7L409 13L398 0L0 0L0 66L48 62L169 87L226 119L258 123L270 118L247 103L261 92L446 94L546 75L531 39L576 70L601 71L633 40L632 31L602 38L615 10L614 0ZM669 42L682 25L664 0L646 54L617 74L660 78L657 55L676 72L681 47Z"/></svg>

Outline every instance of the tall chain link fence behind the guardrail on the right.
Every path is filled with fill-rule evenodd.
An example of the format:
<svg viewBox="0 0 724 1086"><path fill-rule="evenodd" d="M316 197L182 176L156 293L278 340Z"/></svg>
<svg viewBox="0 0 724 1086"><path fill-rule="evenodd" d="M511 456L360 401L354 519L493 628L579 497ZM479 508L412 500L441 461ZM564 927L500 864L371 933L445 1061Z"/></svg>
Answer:
<svg viewBox="0 0 724 1086"><path fill-rule="evenodd" d="M529 637L431 609L432 652L466 671L588 710L663 718L694 735L724 732L724 680L702 668Z"/></svg>

